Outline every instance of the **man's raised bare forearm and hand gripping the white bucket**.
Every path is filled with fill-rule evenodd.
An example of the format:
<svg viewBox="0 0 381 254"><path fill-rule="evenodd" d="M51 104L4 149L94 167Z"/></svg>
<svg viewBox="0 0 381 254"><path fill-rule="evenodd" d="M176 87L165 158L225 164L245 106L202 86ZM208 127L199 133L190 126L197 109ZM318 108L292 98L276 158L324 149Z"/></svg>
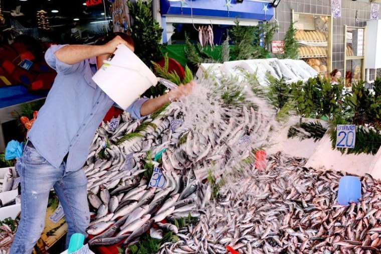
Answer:
<svg viewBox="0 0 381 254"><path fill-rule="evenodd" d="M116 36L112 41L101 46L92 45L67 45L55 53L58 60L66 64L76 64L83 60L115 52L119 44L129 45L125 40Z"/></svg>

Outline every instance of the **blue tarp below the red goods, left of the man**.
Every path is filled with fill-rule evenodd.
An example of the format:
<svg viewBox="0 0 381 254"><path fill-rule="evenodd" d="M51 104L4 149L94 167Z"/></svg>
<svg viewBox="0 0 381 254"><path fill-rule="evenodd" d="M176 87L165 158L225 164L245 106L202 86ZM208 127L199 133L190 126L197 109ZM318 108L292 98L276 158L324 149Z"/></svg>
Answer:
<svg viewBox="0 0 381 254"><path fill-rule="evenodd" d="M45 96L46 94L32 94L22 85L0 87L0 108L36 100Z"/></svg>

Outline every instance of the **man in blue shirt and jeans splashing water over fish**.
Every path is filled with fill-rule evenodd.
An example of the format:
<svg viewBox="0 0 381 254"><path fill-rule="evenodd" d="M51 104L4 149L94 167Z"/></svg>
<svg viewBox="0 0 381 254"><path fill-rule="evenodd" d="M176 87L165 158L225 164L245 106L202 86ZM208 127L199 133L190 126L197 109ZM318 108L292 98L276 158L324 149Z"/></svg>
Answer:
<svg viewBox="0 0 381 254"><path fill-rule="evenodd" d="M45 54L46 62L57 71L57 76L28 133L23 157L16 165L21 179L21 220L12 254L32 252L44 229L52 188L65 212L66 244L73 233L86 234L90 215L82 166L99 124L114 104L92 76L118 45L134 50L131 37L122 33L101 42L103 45L96 46L53 45ZM134 118L142 118L189 94L194 85L191 82L179 86L153 99L137 99L125 110Z"/></svg>

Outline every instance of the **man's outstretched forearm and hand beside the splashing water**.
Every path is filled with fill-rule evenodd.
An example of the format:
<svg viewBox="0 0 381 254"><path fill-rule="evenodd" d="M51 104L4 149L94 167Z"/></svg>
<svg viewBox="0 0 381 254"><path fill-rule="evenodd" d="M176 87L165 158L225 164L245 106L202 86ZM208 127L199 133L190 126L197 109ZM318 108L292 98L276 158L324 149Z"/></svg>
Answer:
<svg viewBox="0 0 381 254"><path fill-rule="evenodd" d="M145 101L140 108L140 115L145 116L151 114L158 110L160 107L165 105L168 102L179 99L181 96L188 95L193 87L196 85L196 82L191 81L186 85L181 85L178 88L169 91L168 93L161 95L159 97L149 99Z"/></svg>

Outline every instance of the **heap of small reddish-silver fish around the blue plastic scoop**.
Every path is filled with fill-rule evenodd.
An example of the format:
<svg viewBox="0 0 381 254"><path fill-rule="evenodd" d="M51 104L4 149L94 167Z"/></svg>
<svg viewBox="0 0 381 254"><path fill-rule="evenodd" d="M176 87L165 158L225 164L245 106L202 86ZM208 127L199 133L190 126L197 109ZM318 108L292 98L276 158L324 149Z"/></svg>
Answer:
<svg viewBox="0 0 381 254"><path fill-rule="evenodd" d="M379 253L381 182L361 177L362 197L337 204L344 173L305 168L278 153L264 171L236 173L195 226L160 253ZM180 228L180 230L182 230Z"/></svg>

